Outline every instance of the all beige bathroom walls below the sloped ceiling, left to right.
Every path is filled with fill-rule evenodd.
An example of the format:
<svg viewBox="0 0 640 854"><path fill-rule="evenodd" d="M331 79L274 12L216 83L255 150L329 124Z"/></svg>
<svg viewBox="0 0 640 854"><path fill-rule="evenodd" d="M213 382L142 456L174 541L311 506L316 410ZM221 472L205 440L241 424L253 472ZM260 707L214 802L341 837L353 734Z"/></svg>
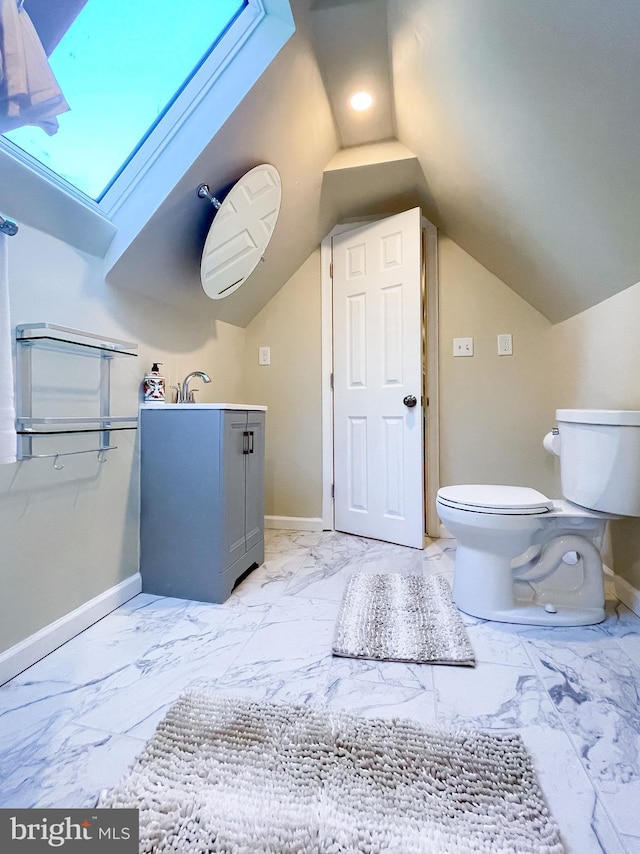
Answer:
<svg viewBox="0 0 640 854"><path fill-rule="evenodd" d="M442 483L528 483L557 492L541 440L556 406L640 408L640 285L552 327L445 236L439 239ZM46 271L43 273L43 271ZM105 284L98 261L22 227L10 243L12 323L49 320L137 341L114 366L115 397L135 410L152 360L169 382L194 369L199 399L262 403L267 414L266 513L321 516L321 278L315 251L246 330L181 313ZM497 355L511 332L514 355ZM473 337L473 358L451 355ZM258 366L258 347L271 365ZM73 376L70 376L70 385ZM138 569L137 436L93 455L0 467L0 650ZM616 523L614 568L640 589L640 523Z"/></svg>

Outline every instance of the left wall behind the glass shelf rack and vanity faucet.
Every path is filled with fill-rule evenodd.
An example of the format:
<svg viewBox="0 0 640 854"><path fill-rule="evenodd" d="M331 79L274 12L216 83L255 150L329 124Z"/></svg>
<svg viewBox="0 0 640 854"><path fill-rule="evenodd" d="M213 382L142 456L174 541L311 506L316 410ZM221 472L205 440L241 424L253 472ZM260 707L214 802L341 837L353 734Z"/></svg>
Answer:
<svg viewBox="0 0 640 854"><path fill-rule="evenodd" d="M117 291L95 258L27 226L9 242L9 274L12 325L50 321L139 342L138 358L113 365L119 414L135 414L153 359L171 382L193 369L210 373L201 400L242 399L244 330ZM70 396L81 361L68 360ZM88 441L97 437L61 437L55 449ZM87 454L64 458L61 471L51 460L0 466L0 650L138 571L137 433L117 433L113 444L103 465Z"/></svg>

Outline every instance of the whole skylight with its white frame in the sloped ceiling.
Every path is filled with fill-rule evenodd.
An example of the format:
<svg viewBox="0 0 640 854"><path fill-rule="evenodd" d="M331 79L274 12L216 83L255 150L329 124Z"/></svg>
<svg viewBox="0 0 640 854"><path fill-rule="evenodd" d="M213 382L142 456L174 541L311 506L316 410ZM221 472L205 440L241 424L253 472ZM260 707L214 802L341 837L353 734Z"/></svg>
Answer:
<svg viewBox="0 0 640 854"><path fill-rule="evenodd" d="M15 21L22 3L0 0L0 7ZM96 73L91 85L87 83L86 97L76 99L55 58L51 60L71 108L60 113L64 103L56 97L44 103L35 97L22 102L15 86L14 100L7 103L7 75L0 81L3 213L104 258L108 273L295 33L290 2L24 0L23 5L37 31L36 47L39 36L50 58L64 55L63 39L74 37L75 28L81 43L81 16L92 7L99 9L96 31L89 28L90 36L85 35L90 49L82 46L90 67L95 57ZM28 19L19 22L26 25ZM2 62L5 37L6 27L0 28ZM66 50L75 56L73 46ZM177 67L169 77L176 58L184 61L182 69ZM37 59L42 62L43 57ZM140 62L131 65L133 59ZM48 72L46 56L44 66ZM79 64L71 76L84 76ZM45 96L51 88L55 96L55 81ZM83 102L93 125L77 137L71 131L67 136L65 123L80 112ZM21 129L20 135L32 138L34 145L21 141L23 150L14 141L16 113L21 121L23 111L39 112L51 130L55 121L49 121L50 106L56 111L57 134L47 138L40 128ZM143 107L146 115L138 123ZM196 175L194 186L203 178L208 176Z"/></svg>

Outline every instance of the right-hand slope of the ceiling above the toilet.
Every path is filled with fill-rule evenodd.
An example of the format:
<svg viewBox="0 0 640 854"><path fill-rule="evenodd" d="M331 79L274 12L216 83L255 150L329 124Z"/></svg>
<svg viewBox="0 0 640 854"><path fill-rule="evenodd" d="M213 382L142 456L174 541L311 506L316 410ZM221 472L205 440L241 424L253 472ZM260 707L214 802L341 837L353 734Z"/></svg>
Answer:
<svg viewBox="0 0 640 854"><path fill-rule="evenodd" d="M432 218L552 322L640 280L640 4L389 0Z"/></svg>

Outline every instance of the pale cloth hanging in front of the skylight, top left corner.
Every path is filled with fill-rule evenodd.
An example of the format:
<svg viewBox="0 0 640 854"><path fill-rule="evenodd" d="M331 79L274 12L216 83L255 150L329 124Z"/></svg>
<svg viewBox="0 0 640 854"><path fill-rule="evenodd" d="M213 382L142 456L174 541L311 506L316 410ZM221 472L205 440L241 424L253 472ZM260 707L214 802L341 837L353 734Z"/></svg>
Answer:
<svg viewBox="0 0 640 854"><path fill-rule="evenodd" d="M52 136L68 109L31 18L0 0L0 133L35 125Z"/></svg>

